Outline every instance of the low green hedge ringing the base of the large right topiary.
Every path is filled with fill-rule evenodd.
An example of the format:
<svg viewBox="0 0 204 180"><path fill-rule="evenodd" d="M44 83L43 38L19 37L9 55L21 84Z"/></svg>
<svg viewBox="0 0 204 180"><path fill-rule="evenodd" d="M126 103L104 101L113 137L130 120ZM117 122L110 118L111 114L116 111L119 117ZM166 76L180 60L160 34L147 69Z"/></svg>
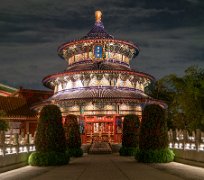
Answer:
<svg viewBox="0 0 204 180"><path fill-rule="evenodd" d="M168 163L173 161L175 154L170 149L139 150L135 153L135 159L144 163Z"/></svg>

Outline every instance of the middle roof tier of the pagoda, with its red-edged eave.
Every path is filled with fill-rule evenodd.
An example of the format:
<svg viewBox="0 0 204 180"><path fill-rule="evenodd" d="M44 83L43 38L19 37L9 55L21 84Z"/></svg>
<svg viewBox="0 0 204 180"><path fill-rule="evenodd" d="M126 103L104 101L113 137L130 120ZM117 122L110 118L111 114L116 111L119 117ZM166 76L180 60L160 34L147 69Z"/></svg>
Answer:
<svg viewBox="0 0 204 180"><path fill-rule="evenodd" d="M42 81L46 87L54 89L56 85L67 82L70 79L73 82L77 79L86 81L87 79L92 79L94 76L97 79L104 77L108 80L121 78L123 81L128 78L134 82L150 82L155 80L149 74L135 71L126 66L118 66L114 63L91 63L80 64L75 67L72 66L65 72L46 76Z"/></svg>

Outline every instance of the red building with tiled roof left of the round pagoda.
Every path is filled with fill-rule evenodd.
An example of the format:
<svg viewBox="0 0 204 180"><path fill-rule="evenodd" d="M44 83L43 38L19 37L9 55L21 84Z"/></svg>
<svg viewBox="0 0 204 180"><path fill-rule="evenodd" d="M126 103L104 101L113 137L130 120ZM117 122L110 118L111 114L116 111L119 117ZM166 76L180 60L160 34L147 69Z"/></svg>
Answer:
<svg viewBox="0 0 204 180"><path fill-rule="evenodd" d="M0 110L6 113L3 119L9 121L9 133L34 135L38 114L31 106L49 98L53 92L23 88L18 90L2 84L0 89L4 91L3 96L0 95Z"/></svg>

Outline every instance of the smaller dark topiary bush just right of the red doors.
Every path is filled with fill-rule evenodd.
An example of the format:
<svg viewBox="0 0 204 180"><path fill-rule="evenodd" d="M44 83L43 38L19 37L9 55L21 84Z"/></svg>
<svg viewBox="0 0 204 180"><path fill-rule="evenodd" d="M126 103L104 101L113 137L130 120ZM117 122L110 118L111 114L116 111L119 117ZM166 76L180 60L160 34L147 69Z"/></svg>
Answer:
<svg viewBox="0 0 204 180"><path fill-rule="evenodd" d="M124 117L121 156L131 156L138 146L138 133L140 121L137 115L130 114Z"/></svg>

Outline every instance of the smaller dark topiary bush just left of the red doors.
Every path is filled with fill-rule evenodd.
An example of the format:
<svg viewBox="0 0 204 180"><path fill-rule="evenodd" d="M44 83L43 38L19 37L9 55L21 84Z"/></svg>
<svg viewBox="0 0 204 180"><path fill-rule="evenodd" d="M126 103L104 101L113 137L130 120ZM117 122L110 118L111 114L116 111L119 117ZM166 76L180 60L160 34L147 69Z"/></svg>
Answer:
<svg viewBox="0 0 204 180"><path fill-rule="evenodd" d="M64 124L67 152L70 156L81 157L83 150L81 149L81 135L79 124L75 115L68 115Z"/></svg>

